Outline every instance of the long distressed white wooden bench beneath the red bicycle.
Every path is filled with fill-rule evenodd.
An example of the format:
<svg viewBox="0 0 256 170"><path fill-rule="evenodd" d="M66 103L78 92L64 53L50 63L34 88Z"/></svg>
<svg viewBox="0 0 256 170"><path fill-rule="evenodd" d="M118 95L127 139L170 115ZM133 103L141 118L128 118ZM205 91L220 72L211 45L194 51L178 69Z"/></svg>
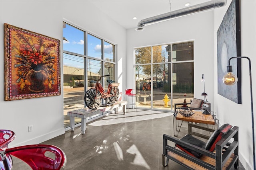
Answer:
<svg viewBox="0 0 256 170"><path fill-rule="evenodd" d="M100 113L104 114L106 111L113 110L113 109L116 113L118 107L121 107L121 106L123 107L123 112L125 114L126 113L126 105L127 105L127 102L118 101L113 105L104 106L104 107L100 106L98 109L95 109L95 110L89 109L89 108L84 108L84 109L68 111L68 116L70 117L70 129L71 129L71 131L74 131L75 117L79 117L79 118L81 118L81 131L82 131L82 134L84 134L85 130L86 130L87 117L91 117L93 115L97 115Z"/></svg>

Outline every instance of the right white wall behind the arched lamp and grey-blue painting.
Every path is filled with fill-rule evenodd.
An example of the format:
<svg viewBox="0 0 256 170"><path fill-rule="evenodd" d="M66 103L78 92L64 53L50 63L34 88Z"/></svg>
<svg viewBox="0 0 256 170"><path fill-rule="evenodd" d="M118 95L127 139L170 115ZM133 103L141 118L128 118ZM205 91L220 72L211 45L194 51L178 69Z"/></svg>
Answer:
<svg viewBox="0 0 256 170"><path fill-rule="evenodd" d="M252 62L252 90L255 106L256 1L241 0L240 2L242 56L249 57ZM228 0L228 3L225 7L218 8L214 11L214 110L218 116L218 119L220 119L221 124L230 123L233 126L239 127L239 159L245 169L252 169L252 119L250 102L250 80L248 69L249 66L247 59L242 59L242 104L236 104L231 100L228 100L218 94L216 32L230 3L231 0Z"/></svg>

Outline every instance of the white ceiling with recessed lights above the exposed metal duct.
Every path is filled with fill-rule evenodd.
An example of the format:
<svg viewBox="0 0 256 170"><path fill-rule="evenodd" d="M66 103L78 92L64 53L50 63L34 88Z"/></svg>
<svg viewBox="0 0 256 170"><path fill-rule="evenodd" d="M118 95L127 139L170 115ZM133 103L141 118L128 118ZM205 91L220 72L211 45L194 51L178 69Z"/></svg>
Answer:
<svg viewBox="0 0 256 170"><path fill-rule="evenodd" d="M125 29L135 28L140 20L210 0L88 0ZM170 5L171 4L171 5ZM134 16L136 20L132 19Z"/></svg>

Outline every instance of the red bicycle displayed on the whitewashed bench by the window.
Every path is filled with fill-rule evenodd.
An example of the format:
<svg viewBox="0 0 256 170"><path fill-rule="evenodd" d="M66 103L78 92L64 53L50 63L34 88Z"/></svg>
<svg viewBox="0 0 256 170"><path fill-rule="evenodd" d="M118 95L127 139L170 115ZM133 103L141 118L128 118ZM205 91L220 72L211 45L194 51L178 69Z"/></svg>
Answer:
<svg viewBox="0 0 256 170"><path fill-rule="evenodd" d="M114 80L107 80L108 90L107 92L104 91L104 88L100 84L100 80L102 77L110 76L104 75L100 76L100 78L96 81L95 87L90 88L85 92L84 95L84 102L86 106L90 109L97 109L102 104L102 98L106 100L106 102L110 102L114 104L118 101L119 98L119 83L115 83Z"/></svg>

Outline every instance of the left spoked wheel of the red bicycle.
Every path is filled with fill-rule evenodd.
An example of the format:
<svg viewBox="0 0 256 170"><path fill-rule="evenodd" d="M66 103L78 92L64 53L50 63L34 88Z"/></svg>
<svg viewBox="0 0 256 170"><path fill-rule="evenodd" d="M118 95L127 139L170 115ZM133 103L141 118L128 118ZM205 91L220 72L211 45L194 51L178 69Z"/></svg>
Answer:
<svg viewBox="0 0 256 170"><path fill-rule="evenodd" d="M90 109L97 109L101 105L101 95L100 92L97 92L95 99L95 89L89 89L84 95L84 102L86 106Z"/></svg>

